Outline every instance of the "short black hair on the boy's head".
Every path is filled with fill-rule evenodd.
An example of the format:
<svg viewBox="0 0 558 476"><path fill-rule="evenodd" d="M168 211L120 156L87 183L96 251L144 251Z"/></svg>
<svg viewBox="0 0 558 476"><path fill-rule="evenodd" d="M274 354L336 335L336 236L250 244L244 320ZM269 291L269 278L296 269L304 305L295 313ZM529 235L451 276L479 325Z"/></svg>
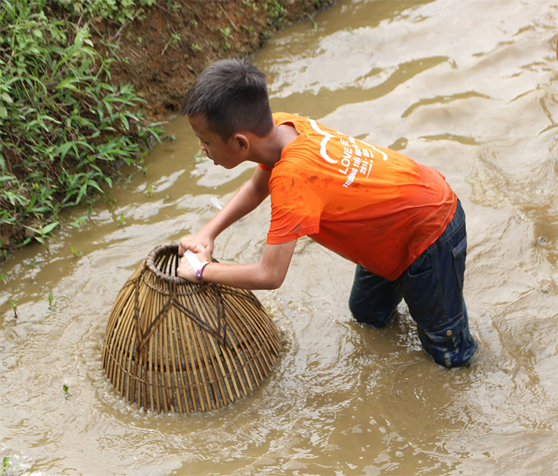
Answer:
<svg viewBox="0 0 558 476"><path fill-rule="evenodd" d="M266 75L246 59L223 59L204 69L188 89L180 113L203 114L223 140L236 131L264 137L273 128Z"/></svg>

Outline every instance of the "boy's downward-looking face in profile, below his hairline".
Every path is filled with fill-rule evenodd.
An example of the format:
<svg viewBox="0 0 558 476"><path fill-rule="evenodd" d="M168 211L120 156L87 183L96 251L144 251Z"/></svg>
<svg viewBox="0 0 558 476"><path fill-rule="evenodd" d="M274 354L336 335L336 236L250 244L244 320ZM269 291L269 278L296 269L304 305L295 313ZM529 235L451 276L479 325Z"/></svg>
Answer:
<svg viewBox="0 0 558 476"><path fill-rule="evenodd" d="M223 140L218 133L209 128L204 115L188 116L188 121L190 121L190 126L192 126L194 134L199 139L199 148L208 158L211 158L213 163L226 169L232 169L244 160L239 154L234 137L226 141Z"/></svg>

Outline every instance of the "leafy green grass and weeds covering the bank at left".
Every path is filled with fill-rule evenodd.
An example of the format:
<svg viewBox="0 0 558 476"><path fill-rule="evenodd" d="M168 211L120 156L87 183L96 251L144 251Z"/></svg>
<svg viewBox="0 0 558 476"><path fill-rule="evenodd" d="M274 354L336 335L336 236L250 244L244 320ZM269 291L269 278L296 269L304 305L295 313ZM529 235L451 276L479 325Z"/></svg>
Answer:
<svg viewBox="0 0 558 476"><path fill-rule="evenodd" d="M114 59L96 51L84 21L87 13L126 21L135 1L71 8L85 16L46 0L2 0L0 8L0 225L26 227L33 237L21 244L44 242L61 209L112 187L122 164L141 168L163 133L145 124L130 84L111 84Z"/></svg>

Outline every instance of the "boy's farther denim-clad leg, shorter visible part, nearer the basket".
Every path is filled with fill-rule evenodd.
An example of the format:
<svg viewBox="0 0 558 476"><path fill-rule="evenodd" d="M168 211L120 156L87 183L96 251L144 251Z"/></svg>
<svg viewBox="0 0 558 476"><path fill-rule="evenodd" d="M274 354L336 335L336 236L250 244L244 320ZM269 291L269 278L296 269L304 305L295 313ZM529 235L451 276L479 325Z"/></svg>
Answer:
<svg viewBox="0 0 558 476"><path fill-rule="evenodd" d="M402 297L397 281L387 281L361 266L356 267L349 308L357 321L373 327L389 324Z"/></svg>

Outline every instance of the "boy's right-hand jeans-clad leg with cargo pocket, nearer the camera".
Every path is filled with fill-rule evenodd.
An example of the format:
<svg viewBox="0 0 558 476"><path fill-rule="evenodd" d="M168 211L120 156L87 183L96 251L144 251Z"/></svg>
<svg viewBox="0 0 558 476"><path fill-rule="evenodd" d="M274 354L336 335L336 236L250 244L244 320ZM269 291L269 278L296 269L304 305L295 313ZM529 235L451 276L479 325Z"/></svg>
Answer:
<svg viewBox="0 0 558 476"><path fill-rule="evenodd" d="M465 212L458 202L442 236L398 278L424 350L446 367L466 365L477 348L463 299L466 255Z"/></svg>

